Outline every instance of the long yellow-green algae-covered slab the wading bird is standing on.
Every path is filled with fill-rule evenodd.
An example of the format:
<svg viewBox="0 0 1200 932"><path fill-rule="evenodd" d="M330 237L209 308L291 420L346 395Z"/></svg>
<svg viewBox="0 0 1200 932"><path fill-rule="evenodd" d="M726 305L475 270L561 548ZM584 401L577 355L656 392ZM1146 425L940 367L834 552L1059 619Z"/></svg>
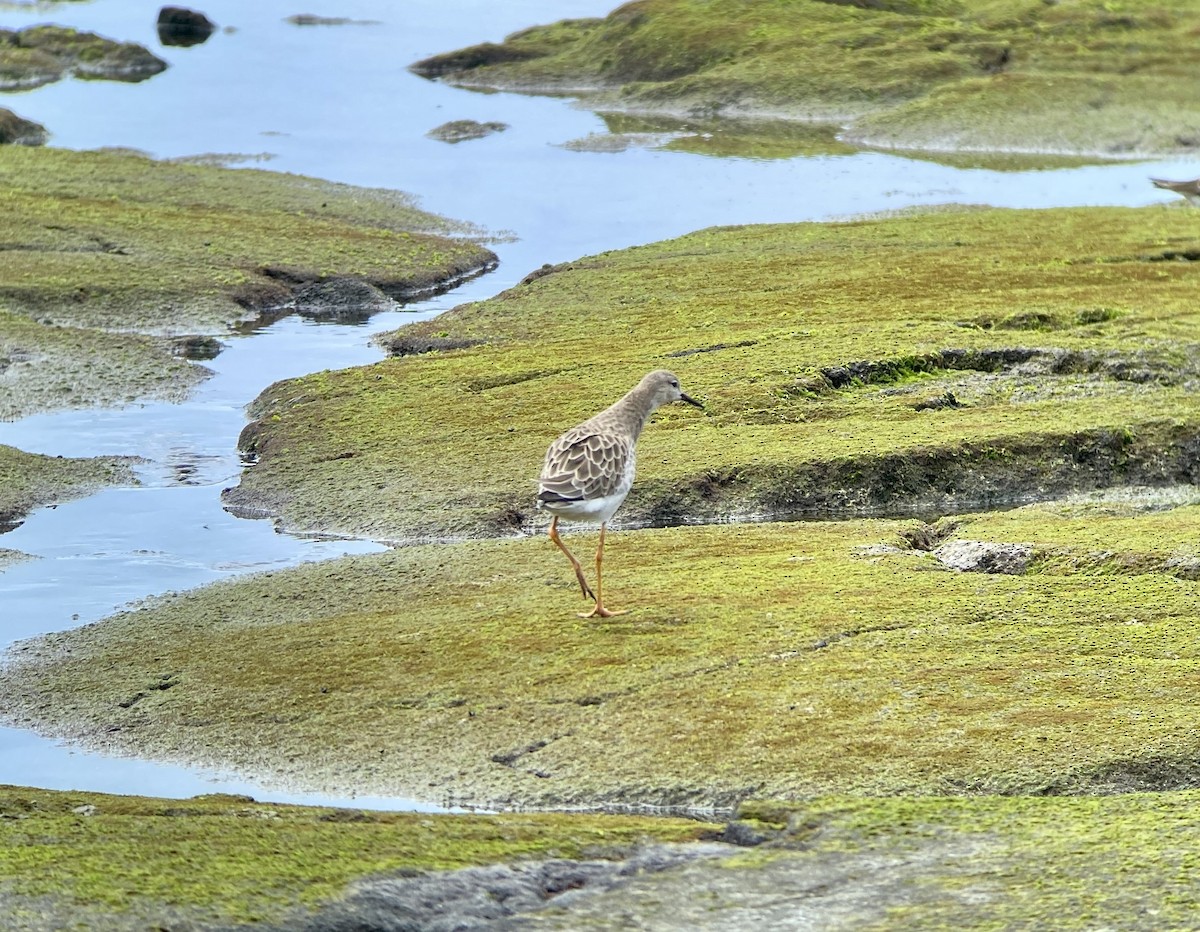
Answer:
<svg viewBox="0 0 1200 932"><path fill-rule="evenodd" d="M1148 563L1194 547L1195 513L1093 533ZM545 539L403 548L26 642L0 685L18 723L90 745L439 800L1194 784L1194 579L952 572L907 548L914 527L616 534L605 594L635 611L604 621L572 615ZM1068 548L1080 527L1032 507L954 535Z"/></svg>

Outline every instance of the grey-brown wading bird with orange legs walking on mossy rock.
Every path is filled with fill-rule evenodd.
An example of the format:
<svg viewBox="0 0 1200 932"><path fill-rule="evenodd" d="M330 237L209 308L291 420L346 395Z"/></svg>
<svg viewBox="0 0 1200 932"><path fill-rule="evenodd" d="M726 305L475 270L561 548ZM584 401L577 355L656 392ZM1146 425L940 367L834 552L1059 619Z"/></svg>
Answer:
<svg viewBox="0 0 1200 932"><path fill-rule="evenodd" d="M538 480L538 507L554 516L550 522L550 539L571 561L583 596L595 600L595 607L580 618L624 614L604 605L601 564L605 530L634 485L634 446L642 428L654 411L671 402L704 407L684 393L673 373L655 369L616 404L572 427L546 451L546 462ZM600 522L595 590L583 577L580 561L559 537L559 518Z"/></svg>

